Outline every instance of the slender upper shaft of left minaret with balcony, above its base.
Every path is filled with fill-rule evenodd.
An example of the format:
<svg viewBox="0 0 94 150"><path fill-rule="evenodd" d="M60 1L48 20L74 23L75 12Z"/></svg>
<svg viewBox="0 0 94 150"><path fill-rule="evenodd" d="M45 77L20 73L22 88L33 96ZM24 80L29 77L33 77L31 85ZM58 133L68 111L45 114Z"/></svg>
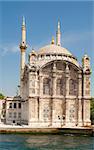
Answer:
<svg viewBox="0 0 94 150"><path fill-rule="evenodd" d="M23 75L23 70L25 67L25 51L27 48L26 45L26 26L25 26L25 18L23 17L22 20L22 37L21 37L21 43L20 43L20 51L21 51L21 62L20 62L20 70L21 70L21 76Z"/></svg>

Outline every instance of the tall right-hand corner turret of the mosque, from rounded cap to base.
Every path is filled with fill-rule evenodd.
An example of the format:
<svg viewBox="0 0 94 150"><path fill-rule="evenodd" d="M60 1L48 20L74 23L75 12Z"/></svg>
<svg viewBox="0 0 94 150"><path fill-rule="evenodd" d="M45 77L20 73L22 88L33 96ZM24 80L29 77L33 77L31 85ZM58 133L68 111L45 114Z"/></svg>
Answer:
<svg viewBox="0 0 94 150"><path fill-rule="evenodd" d="M84 55L82 59L83 67L83 120L84 126L90 126L90 58L87 55ZM88 115L87 115L88 114Z"/></svg>

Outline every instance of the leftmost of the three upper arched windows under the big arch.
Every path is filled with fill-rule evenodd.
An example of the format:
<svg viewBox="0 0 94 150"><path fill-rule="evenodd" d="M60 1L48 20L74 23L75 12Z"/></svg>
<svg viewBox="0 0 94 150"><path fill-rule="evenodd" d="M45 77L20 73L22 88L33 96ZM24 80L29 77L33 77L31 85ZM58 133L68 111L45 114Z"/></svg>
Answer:
<svg viewBox="0 0 94 150"><path fill-rule="evenodd" d="M49 78L43 80L43 94L51 95L51 79Z"/></svg>

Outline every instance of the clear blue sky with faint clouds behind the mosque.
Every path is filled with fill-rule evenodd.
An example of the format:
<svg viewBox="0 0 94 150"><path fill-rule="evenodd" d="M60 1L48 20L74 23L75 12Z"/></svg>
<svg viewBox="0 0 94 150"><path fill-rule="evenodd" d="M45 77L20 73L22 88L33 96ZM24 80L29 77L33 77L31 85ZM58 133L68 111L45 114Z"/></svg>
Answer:
<svg viewBox="0 0 94 150"><path fill-rule="evenodd" d="M94 96L94 2L0 2L0 91L16 94L19 67L22 16L26 18L27 52L49 44L61 21L62 46L81 59L91 58L91 93Z"/></svg>

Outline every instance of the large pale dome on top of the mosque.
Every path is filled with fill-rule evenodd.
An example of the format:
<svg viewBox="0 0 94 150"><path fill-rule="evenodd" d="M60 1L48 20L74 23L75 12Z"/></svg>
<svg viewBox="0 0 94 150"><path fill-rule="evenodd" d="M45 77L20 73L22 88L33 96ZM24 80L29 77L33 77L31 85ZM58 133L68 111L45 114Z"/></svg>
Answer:
<svg viewBox="0 0 94 150"><path fill-rule="evenodd" d="M45 54L64 54L64 55L70 55L72 54L66 49L61 46L57 46L55 44L46 45L39 49L38 54L45 55Z"/></svg>

